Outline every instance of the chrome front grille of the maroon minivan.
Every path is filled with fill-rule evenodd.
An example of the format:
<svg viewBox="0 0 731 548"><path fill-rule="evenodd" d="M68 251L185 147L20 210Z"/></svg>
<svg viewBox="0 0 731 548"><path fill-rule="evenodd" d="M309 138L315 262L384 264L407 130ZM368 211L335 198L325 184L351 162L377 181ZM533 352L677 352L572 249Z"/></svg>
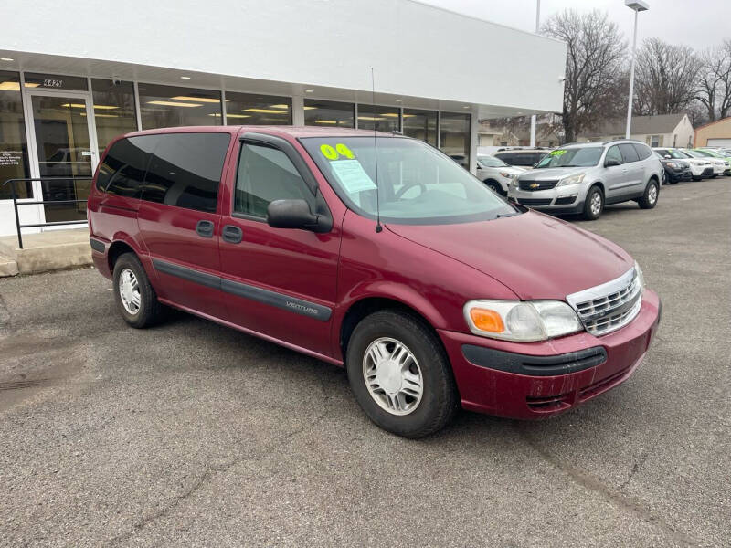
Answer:
<svg viewBox="0 0 731 548"><path fill-rule="evenodd" d="M635 269L595 288L567 295L584 327L599 336L634 320L642 305L642 288Z"/></svg>

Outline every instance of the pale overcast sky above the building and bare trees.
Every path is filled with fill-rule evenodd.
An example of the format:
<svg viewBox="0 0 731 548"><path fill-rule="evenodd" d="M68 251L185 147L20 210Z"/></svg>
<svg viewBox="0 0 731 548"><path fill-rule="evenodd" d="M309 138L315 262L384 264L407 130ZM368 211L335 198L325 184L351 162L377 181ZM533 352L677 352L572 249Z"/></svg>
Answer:
<svg viewBox="0 0 731 548"><path fill-rule="evenodd" d="M536 0L418 0L458 13L480 17L523 30L535 30ZM658 37L695 49L720 44L731 38L731 0L647 0L650 10L639 15L637 43ZM620 26L631 46L634 12L624 0L541 0L541 20L566 8L591 11L598 8Z"/></svg>

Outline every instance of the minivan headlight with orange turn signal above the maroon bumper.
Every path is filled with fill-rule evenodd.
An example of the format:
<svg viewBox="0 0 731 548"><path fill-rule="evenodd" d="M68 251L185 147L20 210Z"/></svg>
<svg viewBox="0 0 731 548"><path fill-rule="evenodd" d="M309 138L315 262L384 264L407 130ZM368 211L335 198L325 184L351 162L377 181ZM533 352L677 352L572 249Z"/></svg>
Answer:
<svg viewBox="0 0 731 548"><path fill-rule="evenodd" d="M562 300L470 300L464 318L475 335L505 341L546 341L584 329Z"/></svg>

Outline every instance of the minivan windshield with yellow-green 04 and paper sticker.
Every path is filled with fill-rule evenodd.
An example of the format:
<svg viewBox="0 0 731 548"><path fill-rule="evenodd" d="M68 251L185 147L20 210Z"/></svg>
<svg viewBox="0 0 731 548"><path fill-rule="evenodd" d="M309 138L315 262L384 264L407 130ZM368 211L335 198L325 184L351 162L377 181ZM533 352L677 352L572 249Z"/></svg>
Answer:
<svg viewBox="0 0 731 548"><path fill-rule="evenodd" d="M519 213L425 142L369 136L300 141L344 204L362 216L376 217L376 197L381 219L393 223L465 223Z"/></svg>

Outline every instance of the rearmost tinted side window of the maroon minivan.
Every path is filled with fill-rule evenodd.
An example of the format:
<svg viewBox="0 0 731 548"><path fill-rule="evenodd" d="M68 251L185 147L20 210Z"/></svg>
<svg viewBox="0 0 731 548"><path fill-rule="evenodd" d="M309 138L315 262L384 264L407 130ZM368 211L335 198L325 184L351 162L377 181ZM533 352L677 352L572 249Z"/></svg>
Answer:
<svg viewBox="0 0 731 548"><path fill-rule="evenodd" d="M153 146L153 135L115 142L99 166L97 188L114 195L139 198Z"/></svg>

